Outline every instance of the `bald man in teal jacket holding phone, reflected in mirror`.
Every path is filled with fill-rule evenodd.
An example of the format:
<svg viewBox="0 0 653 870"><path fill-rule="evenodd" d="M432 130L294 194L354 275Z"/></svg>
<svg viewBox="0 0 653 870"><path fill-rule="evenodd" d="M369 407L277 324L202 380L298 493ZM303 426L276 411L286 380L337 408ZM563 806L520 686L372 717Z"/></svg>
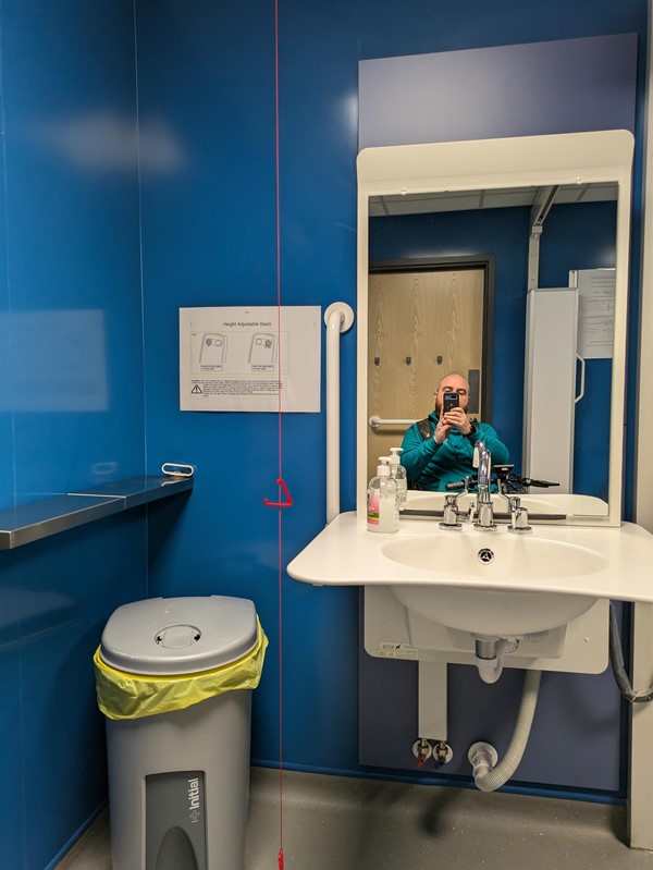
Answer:
<svg viewBox="0 0 653 870"><path fill-rule="evenodd" d="M443 413L445 393L458 394L458 406ZM469 383L461 375L447 375L435 393L435 409L414 424L402 442L402 465L412 489L444 490L447 483L476 473L473 445L484 441L493 465L508 462L508 450L486 422L467 416Z"/></svg>

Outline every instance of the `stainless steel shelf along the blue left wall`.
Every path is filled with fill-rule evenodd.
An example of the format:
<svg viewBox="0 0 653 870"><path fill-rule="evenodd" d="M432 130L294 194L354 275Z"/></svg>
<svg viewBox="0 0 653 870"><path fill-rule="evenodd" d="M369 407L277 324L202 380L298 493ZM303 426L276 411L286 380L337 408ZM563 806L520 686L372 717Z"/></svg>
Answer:
<svg viewBox="0 0 653 870"><path fill-rule="evenodd" d="M0 550L58 535L141 504L193 489L193 478L132 477L83 492L0 511Z"/></svg>

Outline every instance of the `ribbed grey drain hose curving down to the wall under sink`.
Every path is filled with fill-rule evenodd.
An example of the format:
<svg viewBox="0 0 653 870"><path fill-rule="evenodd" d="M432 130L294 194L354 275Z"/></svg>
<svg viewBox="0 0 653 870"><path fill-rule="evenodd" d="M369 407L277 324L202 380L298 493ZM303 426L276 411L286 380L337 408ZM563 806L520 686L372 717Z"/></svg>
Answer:
<svg viewBox="0 0 653 870"><path fill-rule="evenodd" d="M527 671L523 676L521 704L513 739L505 757L498 764L496 763L498 760L496 750L490 744L476 743L469 748L467 757L473 767L473 781L481 792L495 792L501 788L517 770L533 723L541 677L541 671Z"/></svg>

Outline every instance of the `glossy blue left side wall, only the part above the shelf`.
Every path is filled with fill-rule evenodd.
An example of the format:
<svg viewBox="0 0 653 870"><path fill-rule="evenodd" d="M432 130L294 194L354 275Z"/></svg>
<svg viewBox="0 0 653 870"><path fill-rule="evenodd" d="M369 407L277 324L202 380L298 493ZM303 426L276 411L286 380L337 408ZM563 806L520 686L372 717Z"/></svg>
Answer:
<svg viewBox="0 0 653 870"><path fill-rule="evenodd" d="M21 503L143 470L136 94L128 3L2 16Z"/></svg>

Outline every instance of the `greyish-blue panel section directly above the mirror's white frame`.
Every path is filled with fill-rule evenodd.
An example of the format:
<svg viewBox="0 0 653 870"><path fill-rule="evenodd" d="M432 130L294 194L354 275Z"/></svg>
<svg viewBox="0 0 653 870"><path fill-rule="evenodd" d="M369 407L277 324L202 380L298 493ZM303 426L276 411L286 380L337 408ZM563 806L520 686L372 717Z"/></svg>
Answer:
<svg viewBox="0 0 653 870"><path fill-rule="evenodd" d="M359 147L633 130L636 70L637 34L365 61Z"/></svg>

